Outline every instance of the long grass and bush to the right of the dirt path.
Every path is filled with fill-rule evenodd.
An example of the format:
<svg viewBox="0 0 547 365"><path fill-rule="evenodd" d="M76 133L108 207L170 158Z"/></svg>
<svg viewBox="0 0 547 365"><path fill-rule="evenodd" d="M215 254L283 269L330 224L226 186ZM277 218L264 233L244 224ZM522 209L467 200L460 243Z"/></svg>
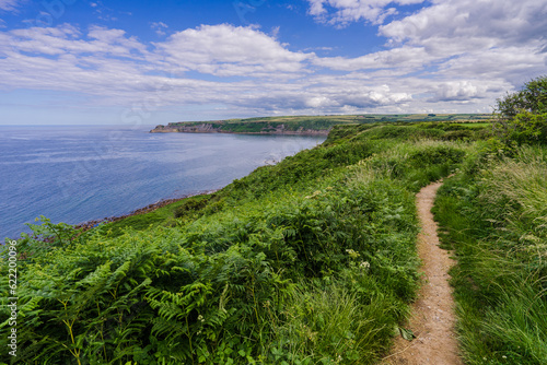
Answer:
<svg viewBox="0 0 547 365"><path fill-rule="evenodd" d="M547 363L546 81L498 102L496 127L508 129L439 190L467 364Z"/></svg>

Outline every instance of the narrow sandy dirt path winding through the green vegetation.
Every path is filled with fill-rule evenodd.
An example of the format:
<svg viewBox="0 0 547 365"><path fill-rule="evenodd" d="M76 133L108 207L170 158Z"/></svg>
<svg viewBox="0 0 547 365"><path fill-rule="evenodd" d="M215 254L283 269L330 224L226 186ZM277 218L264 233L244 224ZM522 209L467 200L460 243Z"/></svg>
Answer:
<svg viewBox="0 0 547 365"><path fill-rule="evenodd" d="M418 254L423 262L423 285L412 305L406 328L417 337L411 342L397 338L392 354L383 365L462 365L454 334L455 315L449 269L455 263L449 251L439 247L437 222L431 208L442 182L431 184L416 196L421 233Z"/></svg>

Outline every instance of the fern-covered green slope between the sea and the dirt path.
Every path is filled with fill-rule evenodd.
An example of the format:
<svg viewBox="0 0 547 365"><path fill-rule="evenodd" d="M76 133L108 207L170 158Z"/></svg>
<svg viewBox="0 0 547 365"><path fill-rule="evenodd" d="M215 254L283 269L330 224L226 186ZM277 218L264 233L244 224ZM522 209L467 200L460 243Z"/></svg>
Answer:
<svg viewBox="0 0 547 365"><path fill-rule="evenodd" d="M75 238L46 221L19 244L18 360L373 363L417 289L414 193L473 150L458 139L484 136L336 127L212 196Z"/></svg>

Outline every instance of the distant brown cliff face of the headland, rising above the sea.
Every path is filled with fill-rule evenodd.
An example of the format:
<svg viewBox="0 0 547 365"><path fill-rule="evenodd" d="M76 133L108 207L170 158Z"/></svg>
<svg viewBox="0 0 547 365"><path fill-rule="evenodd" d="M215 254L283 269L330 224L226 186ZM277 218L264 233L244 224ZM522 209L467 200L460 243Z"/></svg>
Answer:
<svg viewBox="0 0 547 365"><path fill-rule="evenodd" d="M329 129L304 129L289 130L286 125L265 126L258 131L253 123L248 123L248 131L245 128L238 128L237 131L230 130L229 125L223 123L168 123L167 126L158 126L150 133L236 133L236 134L287 134L287 136L327 136Z"/></svg>

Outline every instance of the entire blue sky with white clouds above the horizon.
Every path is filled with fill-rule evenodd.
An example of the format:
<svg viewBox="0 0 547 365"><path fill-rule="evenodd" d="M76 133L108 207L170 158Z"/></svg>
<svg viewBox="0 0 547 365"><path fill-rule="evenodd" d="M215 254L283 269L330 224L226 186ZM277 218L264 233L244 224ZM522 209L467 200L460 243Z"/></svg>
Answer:
<svg viewBox="0 0 547 365"><path fill-rule="evenodd" d="M0 0L0 125L491 113L545 0Z"/></svg>

